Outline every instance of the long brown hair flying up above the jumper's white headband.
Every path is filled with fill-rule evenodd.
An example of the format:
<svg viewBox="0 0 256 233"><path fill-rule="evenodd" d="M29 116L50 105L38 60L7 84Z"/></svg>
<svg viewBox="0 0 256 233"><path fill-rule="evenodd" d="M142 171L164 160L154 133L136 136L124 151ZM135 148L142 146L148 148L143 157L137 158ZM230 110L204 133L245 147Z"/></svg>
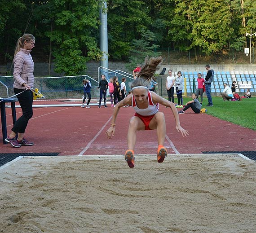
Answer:
<svg viewBox="0 0 256 233"><path fill-rule="evenodd" d="M150 82L154 77L155 71L159 70L162 62L162 57L146 57L145 63L141 67L141 72L138 74L138 78L132 82L131 88L144 86L150 89Z"/></svg>

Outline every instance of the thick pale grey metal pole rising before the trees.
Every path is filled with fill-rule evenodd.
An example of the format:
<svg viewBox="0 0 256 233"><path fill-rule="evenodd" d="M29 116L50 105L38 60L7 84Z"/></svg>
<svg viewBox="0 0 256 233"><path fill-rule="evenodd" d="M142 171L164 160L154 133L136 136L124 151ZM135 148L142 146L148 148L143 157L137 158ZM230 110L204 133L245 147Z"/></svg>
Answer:
<svg viewBox="0 0 256 233"><path fill-rule="evenodd" d="M102 51L100 66L108 69L107 4L105 0L100 4L100 49Z"/></svg>

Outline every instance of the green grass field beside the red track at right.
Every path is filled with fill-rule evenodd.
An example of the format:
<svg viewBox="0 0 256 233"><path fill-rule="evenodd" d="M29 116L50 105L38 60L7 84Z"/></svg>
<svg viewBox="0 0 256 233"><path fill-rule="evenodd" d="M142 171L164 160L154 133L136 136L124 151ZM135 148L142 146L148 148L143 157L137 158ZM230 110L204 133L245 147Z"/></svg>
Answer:
<svg viewBox="0 0 256 233"><path fill-rule="evenodd" d="M183 99L186 103L192 98L184 97ZM256 130L256 97L242 99L242 101L223 101L222 97L212 97L212 102L214 106L208 107L206 106L207 98L203 98L202 108L207 109L206 114Z"/></svg>

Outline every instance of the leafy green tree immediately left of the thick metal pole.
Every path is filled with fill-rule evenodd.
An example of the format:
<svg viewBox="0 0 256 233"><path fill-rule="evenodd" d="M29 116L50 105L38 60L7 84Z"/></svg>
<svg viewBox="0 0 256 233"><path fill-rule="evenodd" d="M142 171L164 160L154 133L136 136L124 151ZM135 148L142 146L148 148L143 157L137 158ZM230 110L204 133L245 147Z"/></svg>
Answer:
<svg viewBox="0 0 256 233"><path fill-rule="evenodd" d="M101 57L95 31L99 26L99 2L94 0L53 0L49 13L51 31L45 33L53 43L57 72L79 75L86 62Z"/></svg>

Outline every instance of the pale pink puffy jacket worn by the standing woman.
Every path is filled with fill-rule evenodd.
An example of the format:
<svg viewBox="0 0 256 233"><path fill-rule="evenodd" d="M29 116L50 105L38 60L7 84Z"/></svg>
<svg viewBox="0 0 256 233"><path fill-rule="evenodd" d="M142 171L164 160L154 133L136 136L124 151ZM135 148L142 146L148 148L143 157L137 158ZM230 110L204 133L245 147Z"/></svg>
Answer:
<svg viewBox="0 0 256 233"><path fill-rule="evenodd" d="M13 88L26 89L22 84L26 83L32 88L34 87L34 62L30 55L31 50L21 48L16 53L13 63Z"/></svg>

